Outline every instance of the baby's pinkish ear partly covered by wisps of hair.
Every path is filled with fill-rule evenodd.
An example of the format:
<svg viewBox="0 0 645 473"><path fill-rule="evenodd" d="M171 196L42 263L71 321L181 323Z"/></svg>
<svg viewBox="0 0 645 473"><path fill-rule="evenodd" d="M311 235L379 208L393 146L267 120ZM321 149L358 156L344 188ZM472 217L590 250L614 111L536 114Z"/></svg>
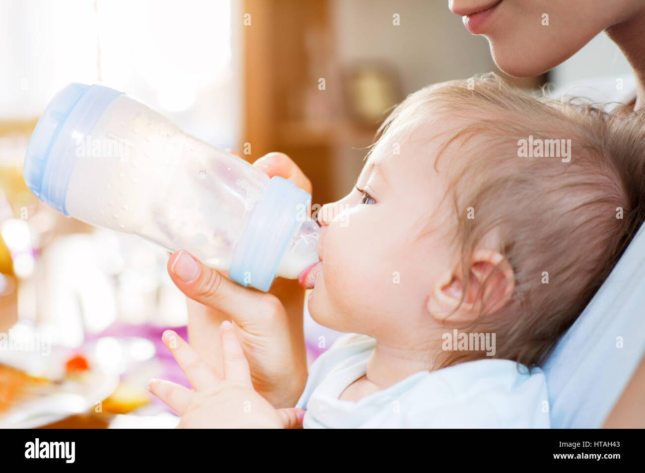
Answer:
<svg viewBox="0 0 645 473"><path fill-rule="evenodd" d="M468 285L460 270L447 271L432 288L428 311L439 321L450 316L451 323L470 323L479 316L482 307L487 313L504 307L514 289L515 274L506 258L494 250L475 250Z"/></svg>

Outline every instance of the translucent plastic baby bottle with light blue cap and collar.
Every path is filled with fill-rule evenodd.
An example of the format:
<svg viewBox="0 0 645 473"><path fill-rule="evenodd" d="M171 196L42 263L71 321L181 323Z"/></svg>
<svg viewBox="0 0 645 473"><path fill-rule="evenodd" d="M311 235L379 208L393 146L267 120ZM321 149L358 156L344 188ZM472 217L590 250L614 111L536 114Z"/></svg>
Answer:
<svg viewBox="0 0 645 473"><path fill-rule="evenodd" d="M24 176L66 216L184 248L244 286L266 291L319 260L307 192L104 86L71 84L52 99Z"/></svg>

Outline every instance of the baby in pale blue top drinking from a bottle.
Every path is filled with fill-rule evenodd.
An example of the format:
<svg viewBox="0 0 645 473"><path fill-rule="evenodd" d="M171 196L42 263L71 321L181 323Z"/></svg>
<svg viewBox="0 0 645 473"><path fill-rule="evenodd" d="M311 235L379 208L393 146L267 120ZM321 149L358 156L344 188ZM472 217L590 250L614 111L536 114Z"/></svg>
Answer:
<svg viewBox="0 0 645 473"><path fill-rule="evenodd" d="M349 334L310 367L304 427L550 427L539 367L645 218L645 119L621 113L495 75L397 106L356 187L319 212L308 309ZM217 395L183 403L233 416L242 396L257 412L244 425L284 425L293 411L253 392L233 330L221 336L226 379L189 376Z"/></svg>

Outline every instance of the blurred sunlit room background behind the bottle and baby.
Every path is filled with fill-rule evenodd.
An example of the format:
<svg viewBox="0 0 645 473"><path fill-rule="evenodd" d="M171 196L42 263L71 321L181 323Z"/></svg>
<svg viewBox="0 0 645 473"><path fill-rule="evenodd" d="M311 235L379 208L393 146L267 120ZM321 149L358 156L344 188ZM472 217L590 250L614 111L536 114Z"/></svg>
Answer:
<svg viewBox="0 0 645 473"><path fill-rule="evenodd" d="M501 74L486 39L468 34L447 3L0 0L0 421L5 413L7 425L141 426L120 415L134 412L165 426L173 418L146 381L183 381L159 345L163 330L186 323L167 252L64 217L25 186L30 134L58 90L122 90L250 162L284 152L323 204L349 192L386 112L408 94ZM548 74L508 79L530 90L628 80L629 70L599 35ZM329 347L335 334L307 317L310 361L324 351L321 334ZM73 396L25 407L52 380Z"/></svg>

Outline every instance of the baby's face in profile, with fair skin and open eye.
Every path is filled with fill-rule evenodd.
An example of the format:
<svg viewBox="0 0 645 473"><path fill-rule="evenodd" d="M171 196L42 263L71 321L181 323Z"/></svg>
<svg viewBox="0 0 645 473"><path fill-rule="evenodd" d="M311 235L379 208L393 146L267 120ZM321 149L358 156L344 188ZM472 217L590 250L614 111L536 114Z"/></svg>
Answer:
<svg viewBox="0 0 645 473"><path fill-rule="evenodd" d="M356 188L321 208L321 272L308 301L321 325L394 342L436 323L428 297L450 266L446 230L455 217L439 205L446 176L433 166L441 141L427 136L415 132L399 154L396 143L380 143Z"/></svg>

